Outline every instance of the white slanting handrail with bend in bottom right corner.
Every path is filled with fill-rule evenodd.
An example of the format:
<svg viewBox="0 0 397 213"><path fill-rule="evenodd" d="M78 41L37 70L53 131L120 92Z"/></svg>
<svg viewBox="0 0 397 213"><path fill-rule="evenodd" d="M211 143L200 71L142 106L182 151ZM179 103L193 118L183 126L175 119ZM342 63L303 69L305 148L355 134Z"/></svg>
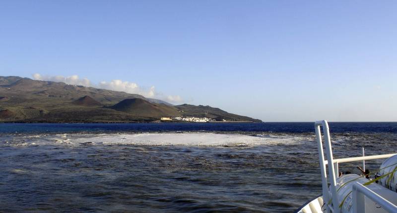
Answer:
<svg viewBox="0 0 397 213"><path fill-rule="evenodd" d="M353 184L353 213L365 213L365 196L380 205L389 213L396 213L397 207L388 200L382 198L374 191L361 185L360 183Z"/></svg>

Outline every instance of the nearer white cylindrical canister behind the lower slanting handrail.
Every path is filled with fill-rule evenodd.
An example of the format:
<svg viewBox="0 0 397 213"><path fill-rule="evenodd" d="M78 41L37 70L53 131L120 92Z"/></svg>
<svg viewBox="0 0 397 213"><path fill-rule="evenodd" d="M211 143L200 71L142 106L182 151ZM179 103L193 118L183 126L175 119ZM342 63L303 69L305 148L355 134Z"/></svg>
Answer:
<svg viewBox="0 0 397 213"><path fill-rule="evenodd" d="M351 181L355 179L354 181ZM350 182L349 182L350 181ZM369 180L361 177L357 174L346 174L340 176L336 180L336 190L337 190L337 198L339 204L343 202L343 205L341 207L341 212L342 213L351 213L352 212L352 205L353 205L353 200L352 200L352 188L353 184L358 182L360 184L364 184L368 182ZM390 201L393 204L397 204L397 193L392 192L379 184L372 183L368 186L370 190L374 191L378 195L382 196L386 200ZM331 190L330 190L331 192ZM333 207L333 208L339 208L339 207ZM387 213L387 211L383 210L382 208L379 207L375 202L370 200L369 198L365 198L365 212L366 213Z"/></svg>

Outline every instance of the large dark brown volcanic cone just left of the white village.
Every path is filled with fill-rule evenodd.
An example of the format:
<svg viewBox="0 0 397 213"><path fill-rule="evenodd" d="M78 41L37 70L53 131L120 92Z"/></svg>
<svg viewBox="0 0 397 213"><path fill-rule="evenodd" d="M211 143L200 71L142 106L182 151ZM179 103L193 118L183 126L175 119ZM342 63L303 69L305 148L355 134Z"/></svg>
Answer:
<svg viewBox="0 0 397 213"><path fill-rule="evenodd" d="M181 113L173 106L154 104L141 98L125 99L111 108L131 115L157 119L160 117L181 116Z"/></svg>

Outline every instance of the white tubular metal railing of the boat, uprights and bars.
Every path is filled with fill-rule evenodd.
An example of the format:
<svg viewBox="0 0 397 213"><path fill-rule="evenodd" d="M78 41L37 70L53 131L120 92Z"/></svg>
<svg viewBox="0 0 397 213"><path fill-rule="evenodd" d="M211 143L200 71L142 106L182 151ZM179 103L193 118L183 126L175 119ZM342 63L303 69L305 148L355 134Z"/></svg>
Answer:
<svg viewBox="0 0 397 213"><path fill-rule="evenodd" d="M321 129L320 129L321 126L323 127L324 143L325 143L325 150L326 150L326 154L327 154L327 160L325 160L325 157L324 157L323 142L322 142ZM315 131L316 131L316 139L317 139L317 148L319 151L319 158L320 158L320 171L321 171L321 177L322 177L323 199L324 199L324 205L326 207L326 212L327 213L331 213L331 212L332 213L340 213L340 209L338 208L339 201L338 201L338 197L337 197L337 193L336 193L336 178L338 177L338 174L339 174L338 164L345 163L345 162L353 162L353 161L363 161L363 168L365 170L365 160L389 158L393 155L396 155L397 153L333 159L332 148L331 148L330 128L328 126L328 122L326 120L316 121L315 122ZM363 151L363 155L364 155L364 151ZM328 165L328 172L329 172L330 180L328 180L328 178L327 178L327 168L326 168L327 165ZM328 190L328 182L330 182L331 193ZM370 199L382 199L383 204L387 204L387 202L390 203L389 201L387 201L384 198L380 197L379 195L375 194L373 191L371 191L367 187L365 187L365 186L362 186L362 187L364 187L367 190L362 189L360 186L356 186L356 188L355 188L356 196L364 196L365 195L365 196L369 197ZM355 199L355 197L353 195L353 206L360 205L360 208L364 208L364 207L362 207L364 205L364 202L362 200L360 200L361 197L359 197L359 202L361 202L359 204L356 203L355 202L356 200L354 200L354 199ZM331 203L330 203L330 201L331 201ZM380 204L379 202L377 202L377 203ZM395 210L393 209L393 211L395 211Z"/></svg>

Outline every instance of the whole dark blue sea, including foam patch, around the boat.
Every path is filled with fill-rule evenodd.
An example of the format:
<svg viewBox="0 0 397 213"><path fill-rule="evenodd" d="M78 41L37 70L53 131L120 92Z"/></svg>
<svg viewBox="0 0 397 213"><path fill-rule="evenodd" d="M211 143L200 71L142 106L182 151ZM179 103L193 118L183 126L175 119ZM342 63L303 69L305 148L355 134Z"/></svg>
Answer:
<svg viewBox="0 0 397 213"><path fill-rule="evenodd" d="M397 152L396 122L330 130L335 158ZM319 195L313 122L0 124L3 213L292 213Z"/></svg>

